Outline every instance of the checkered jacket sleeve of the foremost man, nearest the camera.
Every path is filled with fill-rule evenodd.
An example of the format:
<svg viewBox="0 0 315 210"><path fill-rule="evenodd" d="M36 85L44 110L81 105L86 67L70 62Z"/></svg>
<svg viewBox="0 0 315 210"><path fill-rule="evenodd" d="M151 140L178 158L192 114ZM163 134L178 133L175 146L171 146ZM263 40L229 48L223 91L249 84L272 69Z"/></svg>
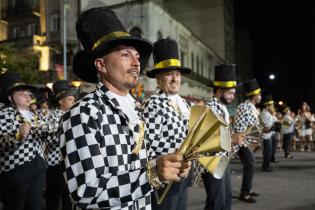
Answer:
<svg viewBox="0 0 315 210"><path fill-rule="evenodd" d="M115 118L108 117L105 124L101 109L75 106L63 116L59 130L62 170L78 207L120 209L144 197L151 187L145 167L124 164L133 157L126 154L120 136L110 133L117 127ZM116 145L109 145L111 141Z"/></svg>

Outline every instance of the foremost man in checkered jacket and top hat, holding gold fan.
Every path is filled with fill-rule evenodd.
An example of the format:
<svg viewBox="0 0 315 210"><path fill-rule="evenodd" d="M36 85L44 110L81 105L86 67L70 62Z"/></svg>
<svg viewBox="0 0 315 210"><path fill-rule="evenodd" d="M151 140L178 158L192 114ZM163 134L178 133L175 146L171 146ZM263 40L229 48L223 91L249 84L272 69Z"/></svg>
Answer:
<svg viewBox="0 0 315 210"><path fill-rule="evenodd" d="M177 180L182 156L156 159L145 141L145 123L129 94L152 43L132 37L116 14L104 7L81 14L76 30L84 50L73 71L96 90L62 117L62 171L77 209L151 209L151 192Z"/></svg>

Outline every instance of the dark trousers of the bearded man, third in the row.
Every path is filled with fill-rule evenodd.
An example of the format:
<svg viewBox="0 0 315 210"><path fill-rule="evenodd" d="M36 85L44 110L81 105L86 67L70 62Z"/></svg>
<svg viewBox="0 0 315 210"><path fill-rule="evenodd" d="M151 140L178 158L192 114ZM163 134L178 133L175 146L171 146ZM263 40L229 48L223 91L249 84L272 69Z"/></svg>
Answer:
<svg viewBox="0 0 315 210"><path fill-rule="evenodd" d="M216 179L209 172L202 174L207 193L205 210L230 210L232 205L232 186L230 165L227 165L222 179Z"/></svg>

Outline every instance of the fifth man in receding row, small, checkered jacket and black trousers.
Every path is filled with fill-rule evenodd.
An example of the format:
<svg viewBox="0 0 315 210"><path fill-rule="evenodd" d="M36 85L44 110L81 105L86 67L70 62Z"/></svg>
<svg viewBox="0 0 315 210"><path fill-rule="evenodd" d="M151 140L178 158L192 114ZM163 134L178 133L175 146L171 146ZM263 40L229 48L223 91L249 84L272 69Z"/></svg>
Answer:
<svg viewBox="0 0 315 210"><path fill-rule="evenodd" d="M262 169L266 172L271 172L270 162L272 157L272 138L275 135L273 126L275 123L275 118L271 114L274 110L274 102L271 95L265 95L263 97L262 103L264 109L259 115L260 124L263 127L263 132L261 139L263 141L263 163Z"/></svg>

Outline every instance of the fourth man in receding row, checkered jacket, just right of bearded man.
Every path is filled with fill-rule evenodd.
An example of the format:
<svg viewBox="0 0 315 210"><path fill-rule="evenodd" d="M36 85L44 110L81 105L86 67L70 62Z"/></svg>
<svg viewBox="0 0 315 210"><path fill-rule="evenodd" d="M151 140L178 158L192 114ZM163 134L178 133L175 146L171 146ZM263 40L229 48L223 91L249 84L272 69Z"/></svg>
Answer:
<svg viewBox="0 0 315 210"><path fill-rule="evenodd" d="M261 89L256 79L244 82L244 91L248 99L241 103L236 110L233 129L236 133L244 133L251 126L259 125L259 113L256 105L261 101ZM246 144L238 145L238 154L243 164L243 179L239 200L255 203L253 196L258 196L252 191L255 173L255 157Z"/></svg>

